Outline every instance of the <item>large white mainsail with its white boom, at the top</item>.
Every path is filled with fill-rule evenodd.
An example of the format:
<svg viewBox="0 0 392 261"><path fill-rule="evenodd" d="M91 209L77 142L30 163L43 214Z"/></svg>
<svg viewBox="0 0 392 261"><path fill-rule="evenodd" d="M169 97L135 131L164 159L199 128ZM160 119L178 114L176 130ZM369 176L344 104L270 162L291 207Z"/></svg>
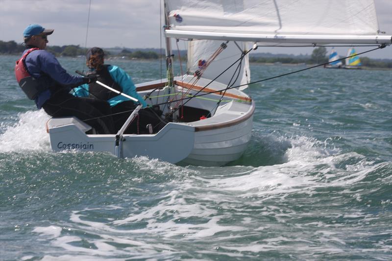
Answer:
<svg viewBox="0 0 392 261"><path fill-rule="evenodd" d="M248 42L391 44L373 0L166 0L167 37ZM337 8L339 6L339 8Z"/></svg>

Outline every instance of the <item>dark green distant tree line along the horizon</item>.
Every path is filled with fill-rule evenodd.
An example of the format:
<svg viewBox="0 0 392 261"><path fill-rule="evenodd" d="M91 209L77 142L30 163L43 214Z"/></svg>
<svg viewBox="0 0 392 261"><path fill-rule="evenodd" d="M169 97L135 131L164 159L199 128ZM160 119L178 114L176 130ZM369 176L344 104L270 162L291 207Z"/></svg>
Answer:
<svg viewBox="0 0 392 261"><path fill-rule="evenodd" d="M25 46L17 44L15 41L3 42L0 41L0 54L21 54L25 50ZM78 45L68 45L68 46L47 46L47 50L56 56L79 56L86 55L87 49L79 47ZM130 51L123 48L120 52L116 54L111 54L109 51L105 50L108 56L120 56L127 59L159 59L161 54L156 51ZM181 60L186 59L186 55L181 57ZM299 57L260 57L250 55L249 61L253 63L282 63L282 64L322 64L328 61L327 50L325 47L317 47L313 50L312 55L308 58ZM344 63L344 61L343 61ZM372 68L389 68L392 69L392 61L384 62L373 60L368 57L361 57L361 63L364 67Z"/></svg>

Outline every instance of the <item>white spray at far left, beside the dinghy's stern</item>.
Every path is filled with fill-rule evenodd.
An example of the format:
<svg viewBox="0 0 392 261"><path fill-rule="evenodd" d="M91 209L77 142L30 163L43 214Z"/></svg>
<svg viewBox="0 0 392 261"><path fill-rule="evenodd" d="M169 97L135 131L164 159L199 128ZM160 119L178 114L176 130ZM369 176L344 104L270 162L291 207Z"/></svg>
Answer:
<svg viewBox="0 0 392 261"><path fill-rule="evenodd" d="M49 134L46 122L50 119L44 110L18 114L19 121L10 126L1 126L1 152L49 151Z"/></svg>

